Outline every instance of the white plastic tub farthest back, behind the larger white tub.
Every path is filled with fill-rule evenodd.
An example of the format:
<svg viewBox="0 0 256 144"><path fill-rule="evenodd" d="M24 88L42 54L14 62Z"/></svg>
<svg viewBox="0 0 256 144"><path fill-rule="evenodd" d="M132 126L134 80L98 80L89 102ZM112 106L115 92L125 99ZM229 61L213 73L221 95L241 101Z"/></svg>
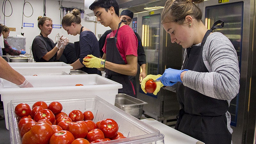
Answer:
<svg viewBox="0 0 256 144"><path fill-rule="evenodd" d="M9 62L9 65L22 75L42 73L70 73L73 67L64 62Z"/></svg>

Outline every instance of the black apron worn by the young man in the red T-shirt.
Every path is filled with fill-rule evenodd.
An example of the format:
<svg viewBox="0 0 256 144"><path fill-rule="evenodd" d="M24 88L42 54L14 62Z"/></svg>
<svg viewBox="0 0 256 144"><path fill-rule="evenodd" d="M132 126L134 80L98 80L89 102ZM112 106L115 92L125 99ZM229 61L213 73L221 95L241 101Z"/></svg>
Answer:
<svg viewBox="0 0 256 144"><path fill-rule="evenodd" d="M119 23L118 29L122 22L123 20ZM125 65L125 62L116 47L118 29L116 31L115 37L107 38L106 60L116 64ZM132 82L129 80L129 77L127 75L119 74L106 68L105 77L123 85L122 89L118 89L118 93L125 93L132 97L135 97L135 93L132 88Z"/></svg>

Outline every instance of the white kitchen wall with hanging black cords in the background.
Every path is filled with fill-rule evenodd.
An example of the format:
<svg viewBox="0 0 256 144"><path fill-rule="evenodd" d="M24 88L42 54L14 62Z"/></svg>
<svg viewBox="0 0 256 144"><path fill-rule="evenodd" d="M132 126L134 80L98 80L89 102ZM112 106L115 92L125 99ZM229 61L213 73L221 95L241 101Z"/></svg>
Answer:
<svg viewBox="0 0 256 144"><path fill-rule="evenodd" d="M10 3L9 3L10 1ZM33 14L32 14L32 7L29 3L25 4L24 7L24 14L26 16L31 17L25 17L23 16L23 23L33 23L34 27L23 27L22 24L22 11L23 11L23 0L0 0L1 6L3 6L3 11L5 9L5 20L4 20L4 14L1 11L0 12L0 23L5 24L9 28L16 28L16 31L11 31L10 36L17 36L21 35L21 33L24 33L24 37L26 37L26 51L29 53L29 47L32 45L33 39L35 36L40 34L40 30L37 27L37 18L38 16L44 15L43 10L43 0L26 0L25 2L29 2L33 7ZM3 4L5 2L5 4ZM61 3L61 2L60 2ZM5 5L5 6L4 6ZM11 8L12 5L12 8ZM52 23L54 25L60 25L60 5L59 1L52 1L52 0L46 0L46 16L52 18ZM84 4L81 3L71 3L71 2L62 2L63 7L74 7L78 9L84 9ZM12 14L11 14L12 13ZM6 17L9 16L10 17ZM61 10L62 15L62 10ZM93 19L91 17L90 19ZM94 19L95 20L95 19ZM90 29L94 34L96 34L96 37L99 39L98 35L103 34L106 30L110 29L109 27L104 27L99 22L89 21L86 20L86 15L84 15L84 19L82 19L81 24ZM72 36L68 35L67 32L63 28L53 28L52 33L48 36L51 38L54 42L57 41L57 38L55 37L60 34L64 35L65 37L68 37L70 39L71 43L74 43L76 41L79 41L79 35Z"/></svg>

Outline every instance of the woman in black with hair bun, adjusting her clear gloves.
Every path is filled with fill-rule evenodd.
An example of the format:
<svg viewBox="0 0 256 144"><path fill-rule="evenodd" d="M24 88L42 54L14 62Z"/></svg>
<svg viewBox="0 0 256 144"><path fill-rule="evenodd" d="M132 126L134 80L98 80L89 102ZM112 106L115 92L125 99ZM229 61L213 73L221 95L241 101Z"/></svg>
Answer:
<svg viewBox="0 0 256 144"><path fill-rule="evenodd" d="M41 30L40 35L36 36L32 43L32 53L36 62L54 62L60 59L60 56L69 43L68 38L60 36L58 43L55 45L48 35L52 32L52 19L48 17L38 17L38 28Z"/></svg>

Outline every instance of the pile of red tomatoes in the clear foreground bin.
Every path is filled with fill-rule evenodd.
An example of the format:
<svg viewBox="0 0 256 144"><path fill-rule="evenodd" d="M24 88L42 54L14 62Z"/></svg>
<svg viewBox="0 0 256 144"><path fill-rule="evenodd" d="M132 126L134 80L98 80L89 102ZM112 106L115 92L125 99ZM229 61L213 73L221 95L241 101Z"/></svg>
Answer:
<svg viewBox="0 0 256 144"><path fill-rule="evenodd" d="M15 107L22 144L89 144L126 138L118 132L115 120L107 118L97 123L91 111L62 112L62 104L47 105L37 101L32 106L20 103Z"/></svg>

